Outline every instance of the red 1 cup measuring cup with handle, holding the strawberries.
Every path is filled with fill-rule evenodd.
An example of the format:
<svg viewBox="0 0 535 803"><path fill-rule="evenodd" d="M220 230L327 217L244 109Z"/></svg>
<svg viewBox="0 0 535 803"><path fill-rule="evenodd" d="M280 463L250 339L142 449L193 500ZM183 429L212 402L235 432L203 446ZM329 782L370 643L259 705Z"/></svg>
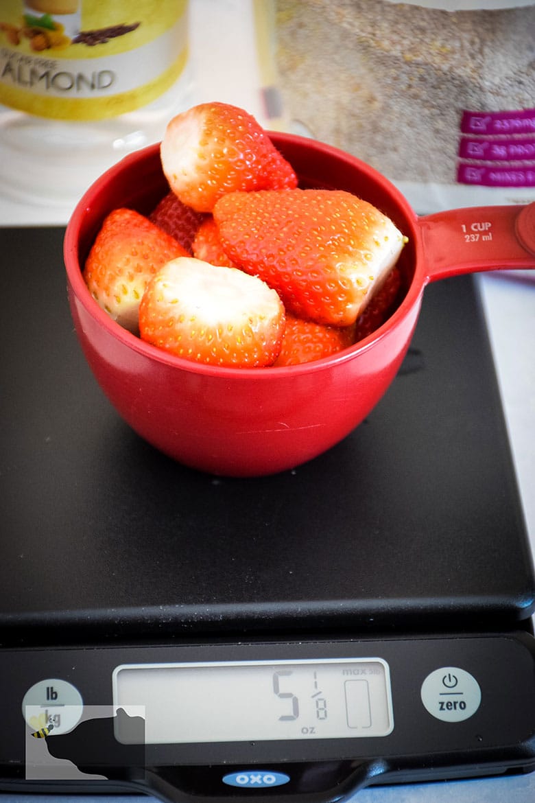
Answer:
<svg viewBox="0 0 535 803"><path fill-rule="evenodd" d="M294 468L334 446L370 413L394 379L425 286L496 268L535 267L535 204L480 206L418 217L375 169L329 145L272 133L302 186L347 190L378 206L408 243L404 296L389 320L334 357L282 368L231 369L174 357L111 320L82 269L103 218L118 206L147 214L168 192L158 145L126 157L87 190L65 236L71 311L83 352L120 415L157 449L218 475Z"/></svg>

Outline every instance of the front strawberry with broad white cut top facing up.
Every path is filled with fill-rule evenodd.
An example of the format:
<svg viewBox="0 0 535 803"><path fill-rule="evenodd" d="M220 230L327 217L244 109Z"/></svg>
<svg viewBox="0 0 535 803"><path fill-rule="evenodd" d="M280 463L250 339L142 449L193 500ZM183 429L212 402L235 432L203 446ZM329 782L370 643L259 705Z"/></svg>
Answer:
<svg viewBox="0 0 535 803"><path fill-rule="evenodd" d="M143 340L208 365L271 365L284 324L282 301L261 279L193 257L164 265L140 304Z"/></svg>

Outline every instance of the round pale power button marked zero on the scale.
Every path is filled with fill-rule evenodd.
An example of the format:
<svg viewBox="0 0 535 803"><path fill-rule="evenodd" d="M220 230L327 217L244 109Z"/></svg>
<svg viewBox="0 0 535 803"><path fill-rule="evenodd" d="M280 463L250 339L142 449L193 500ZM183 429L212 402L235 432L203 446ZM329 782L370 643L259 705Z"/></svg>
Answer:
<svg viewBox="0 0 535 803"><path fill-rule="evenodd" d="M480 707L479 683L458 666L442 666L424 680L420 691L429 713L444 722L462 722Z"/></svg>

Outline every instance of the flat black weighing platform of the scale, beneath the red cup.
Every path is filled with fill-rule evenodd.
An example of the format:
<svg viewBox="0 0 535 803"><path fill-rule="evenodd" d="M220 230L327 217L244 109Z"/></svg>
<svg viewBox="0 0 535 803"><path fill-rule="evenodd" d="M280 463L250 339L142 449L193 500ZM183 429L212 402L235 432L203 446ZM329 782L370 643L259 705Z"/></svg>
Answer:
<svg viewBox="0 0 535 803"><path fill-rule="evenodd" d="M191 471L121 421L71 324L63 230L0 230L4 642L528 626L535 581L471 277L427 288L399 376L327 454Z"/></svg>

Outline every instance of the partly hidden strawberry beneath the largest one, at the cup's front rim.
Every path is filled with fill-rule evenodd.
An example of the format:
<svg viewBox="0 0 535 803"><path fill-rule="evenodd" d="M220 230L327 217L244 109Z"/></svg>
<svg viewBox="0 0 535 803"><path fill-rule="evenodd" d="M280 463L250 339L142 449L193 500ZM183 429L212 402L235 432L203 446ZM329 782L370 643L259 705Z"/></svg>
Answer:
<svg viewBox="0 0 535 803"><path fill-rule="evenodd" d="M281 351L274 365L298 365L329 357L355 341L355 326L326 326L286 313Z"/></svg>

